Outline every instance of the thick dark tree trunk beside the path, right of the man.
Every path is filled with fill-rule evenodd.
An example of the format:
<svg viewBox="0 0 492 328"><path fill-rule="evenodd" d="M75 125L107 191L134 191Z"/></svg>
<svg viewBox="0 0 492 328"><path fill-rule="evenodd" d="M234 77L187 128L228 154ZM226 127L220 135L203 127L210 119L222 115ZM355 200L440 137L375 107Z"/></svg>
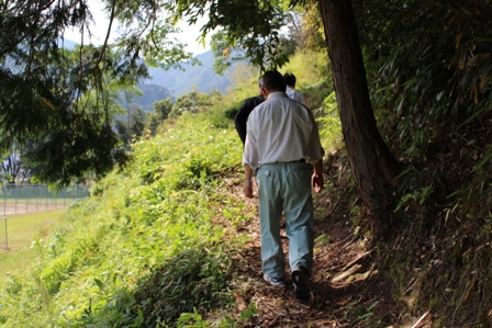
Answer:
<svg viewBox="0 0 492 328"><path fill-rule="evenodd" d="M359 195L369 213L389 208L399 163L379 134L350 0L320 0L338 113Z"/></svg>

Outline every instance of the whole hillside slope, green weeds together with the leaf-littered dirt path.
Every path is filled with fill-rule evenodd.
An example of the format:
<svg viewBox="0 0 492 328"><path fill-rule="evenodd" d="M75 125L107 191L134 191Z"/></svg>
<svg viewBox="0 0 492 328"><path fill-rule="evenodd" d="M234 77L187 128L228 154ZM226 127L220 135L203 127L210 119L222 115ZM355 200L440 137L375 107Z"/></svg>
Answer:
<svg viewBox="0 0 492 328"><path fill-rule="evenodd" d="M241 142L232 123L215 128L208 116L169 121L164 134L135 145L125 169L71 206L67 225L38 242L38 262L2 282L2 327L399 327L416 320L392 302L374 251L356 233L360 204L337 160L327 162L327 189L316 195L311 301L297 302L292 285L267 285L257 201L242 194Z"/></svg>

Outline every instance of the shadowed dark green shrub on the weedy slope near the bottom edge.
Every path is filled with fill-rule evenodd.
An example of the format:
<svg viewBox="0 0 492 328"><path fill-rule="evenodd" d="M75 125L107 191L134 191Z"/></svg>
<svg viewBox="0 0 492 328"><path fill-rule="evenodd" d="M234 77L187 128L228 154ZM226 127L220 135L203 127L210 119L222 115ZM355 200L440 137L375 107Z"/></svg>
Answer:
<svg viewBox="0 0 492 328"><path fill-rule="evenodd" d="M231 259L213 245L185 250L164 263L135 293L144 325L170 325L181 313L213 308L227 289L225 268L231 268Z"/></svg>

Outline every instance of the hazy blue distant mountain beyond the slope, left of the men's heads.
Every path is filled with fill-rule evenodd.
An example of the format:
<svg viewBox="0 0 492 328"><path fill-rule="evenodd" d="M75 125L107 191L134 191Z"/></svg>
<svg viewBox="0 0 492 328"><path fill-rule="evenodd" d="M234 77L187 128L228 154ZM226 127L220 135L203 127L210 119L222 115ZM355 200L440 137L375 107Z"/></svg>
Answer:
<svg viewBox="0 0 492 328"><path fill-rule="evenodd" d="M204 93L219 90L225 93L227 87L231 86L228 76L234 71L236 65L233 65L223 76L220 76L213 70L215 57L211 50L200 54L195 58L202 65L181 65L185 71L176 68L167 71L161 68L150 68L149 73L153 78L144 83L161 86L168 89L175 98L190 93L192 90ZM195 89L193 89L194 87Z"/></svg>

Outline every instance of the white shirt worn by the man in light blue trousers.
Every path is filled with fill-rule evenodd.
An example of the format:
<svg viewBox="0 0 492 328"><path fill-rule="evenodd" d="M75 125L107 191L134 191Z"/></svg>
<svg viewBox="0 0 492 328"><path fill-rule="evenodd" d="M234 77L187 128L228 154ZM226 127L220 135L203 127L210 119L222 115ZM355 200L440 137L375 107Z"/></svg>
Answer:
<svg viewBox="0 0 492 328"><path fill-rule="evenodd" d="M323 158L320 133L312 112L287 97L272 92L249 114L243 165L260 165L304 158L316 163Z"/></svg>

